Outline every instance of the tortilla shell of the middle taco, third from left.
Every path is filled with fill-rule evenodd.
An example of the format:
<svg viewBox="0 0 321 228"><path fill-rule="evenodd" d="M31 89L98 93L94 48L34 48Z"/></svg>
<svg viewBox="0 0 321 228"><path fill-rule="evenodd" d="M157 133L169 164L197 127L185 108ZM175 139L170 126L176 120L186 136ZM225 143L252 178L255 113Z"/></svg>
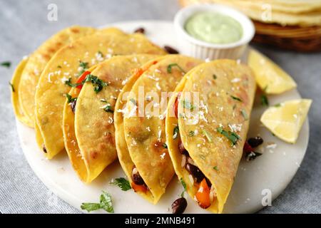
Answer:
<svg viewBox="0 0 321 228"><path fill-rule="evenodd" d="M95 93L91 83L85 83L81 90L72 88L69 92L72 98L77 98L76 113L73 113L71 103L66 100L63 139L71 164L83 182L94 180L116 159L113 124L116 98L133 70L153 58L156 56L147 54L114 56L89 70L108 82L109 85L101 92ZM106 107L108 109L104 110Z"/></svg>

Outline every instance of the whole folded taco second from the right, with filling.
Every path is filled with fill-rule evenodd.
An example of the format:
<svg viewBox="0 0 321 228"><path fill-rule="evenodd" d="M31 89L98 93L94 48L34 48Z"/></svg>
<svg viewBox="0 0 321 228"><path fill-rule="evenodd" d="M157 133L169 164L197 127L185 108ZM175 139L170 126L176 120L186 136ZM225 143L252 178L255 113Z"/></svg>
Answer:
<svg viewBox="0 0 321 228"><path fill-rule="evenodd" d="M133 190L153 204L174 174L165 144L169 92L185 72L202 62L180 55L156 59L137 71L118 95L114 113L118 159Z"/></svg>

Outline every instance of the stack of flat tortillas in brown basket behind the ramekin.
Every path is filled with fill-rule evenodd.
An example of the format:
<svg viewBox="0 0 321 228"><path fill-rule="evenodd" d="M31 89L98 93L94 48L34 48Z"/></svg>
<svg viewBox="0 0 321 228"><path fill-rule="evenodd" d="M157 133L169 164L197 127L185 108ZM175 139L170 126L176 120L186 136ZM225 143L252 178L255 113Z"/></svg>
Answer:
<svg viewBox="0 0 321 228"><path fill-rule="evenodd" d="M320 0L180 0L183 6L218 3L235 7L255 24L254 42L294 51L321 50Z"/></svg>

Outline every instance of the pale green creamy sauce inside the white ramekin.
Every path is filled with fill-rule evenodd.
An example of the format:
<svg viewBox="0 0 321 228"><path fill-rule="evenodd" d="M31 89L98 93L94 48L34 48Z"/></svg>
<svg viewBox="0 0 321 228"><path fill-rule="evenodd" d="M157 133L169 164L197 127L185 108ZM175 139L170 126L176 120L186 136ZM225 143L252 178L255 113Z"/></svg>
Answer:
<svg viewBox="0 0 321 228"><path fill-rule="evenodd" d="M234 43L243 35L243 28L230 16L215 12L199 12L190 16L185 30L201 41L208 43Z"/></svg>

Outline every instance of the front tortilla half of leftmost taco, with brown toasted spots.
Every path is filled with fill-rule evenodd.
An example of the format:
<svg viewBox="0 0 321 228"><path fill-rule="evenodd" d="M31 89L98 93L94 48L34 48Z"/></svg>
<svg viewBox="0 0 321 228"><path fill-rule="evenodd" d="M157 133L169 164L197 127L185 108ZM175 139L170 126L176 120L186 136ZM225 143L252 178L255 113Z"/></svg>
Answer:
<svg viewBox="0 0 321 228"><path fill-rule="evenodd" d="M42 71L46 67L52 56L63 46L75 41L83 36L91 35L95 28L72 26L59 31L54 36L45 41L34 53L29 56L29 61L25 63L21 73L19 85L16 85L16 94L19 97L13 103L14 109L19 107L17 118L29 127L34 127L34 96L36 86ZM19 67L19 66L18 66Z"/></svg>

